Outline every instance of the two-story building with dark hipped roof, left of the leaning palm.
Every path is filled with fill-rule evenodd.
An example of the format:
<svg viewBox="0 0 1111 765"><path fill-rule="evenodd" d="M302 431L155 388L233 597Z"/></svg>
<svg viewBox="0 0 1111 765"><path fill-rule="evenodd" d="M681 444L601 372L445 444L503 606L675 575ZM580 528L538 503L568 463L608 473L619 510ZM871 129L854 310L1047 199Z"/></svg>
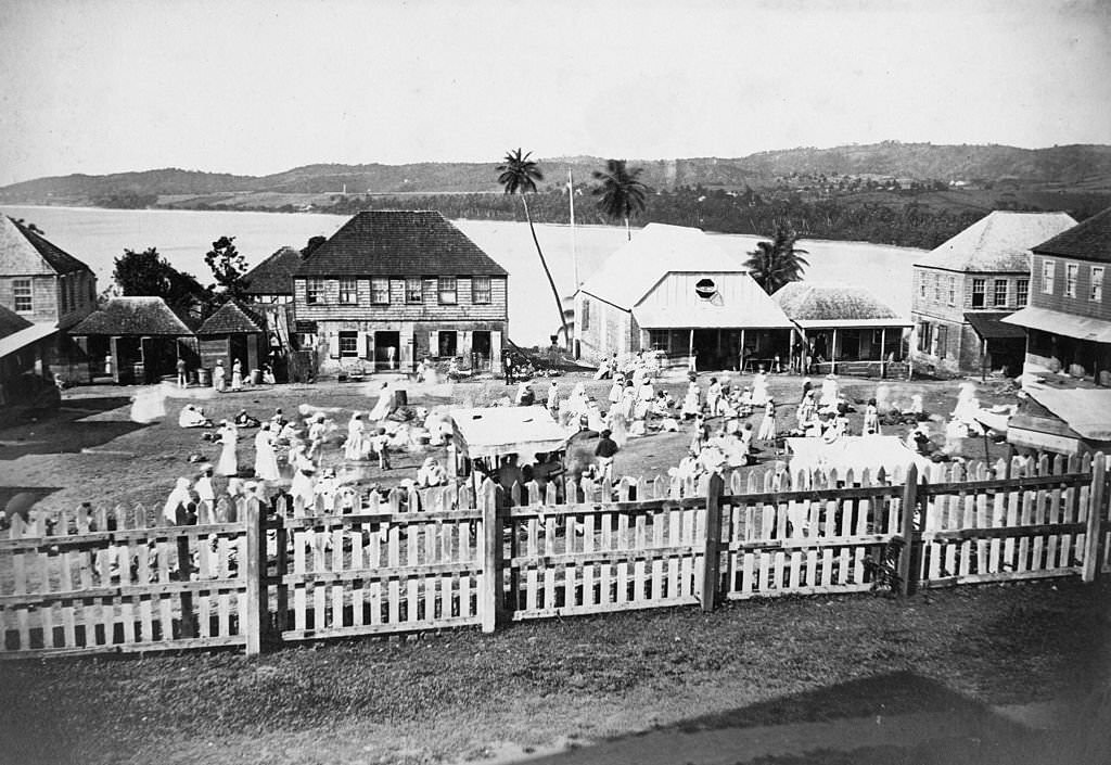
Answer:
<svg viewBox="0 0 1111 765"><path fill-rule="evenodd" d="M296 332L323 372L421 359L499 369L509 274L436 211L356 215L301 261Z"/></svg>

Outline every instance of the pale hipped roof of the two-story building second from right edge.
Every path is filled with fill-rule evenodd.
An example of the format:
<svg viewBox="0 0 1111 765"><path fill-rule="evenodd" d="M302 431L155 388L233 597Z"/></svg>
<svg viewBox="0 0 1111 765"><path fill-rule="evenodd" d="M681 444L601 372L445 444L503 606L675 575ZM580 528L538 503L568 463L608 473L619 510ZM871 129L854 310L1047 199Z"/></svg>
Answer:
<svg viewBox="0 0 1111 765"><path fill-rule="evenodd" d="M914 264L950 271L1030 272L1030 250L1075 226L1065 212L995 210Z"/></svg>

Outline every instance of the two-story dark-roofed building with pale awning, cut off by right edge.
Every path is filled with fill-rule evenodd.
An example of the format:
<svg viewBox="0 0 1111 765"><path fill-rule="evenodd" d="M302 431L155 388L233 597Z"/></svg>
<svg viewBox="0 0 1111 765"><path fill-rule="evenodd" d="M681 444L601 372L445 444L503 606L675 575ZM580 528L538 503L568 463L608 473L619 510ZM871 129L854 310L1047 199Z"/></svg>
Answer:
<svg viewBox="0 0 1111 765"><path fill-rule="evenodd" d="M1111 209L1033 247L1030 305L1007 322L1027 331L1024 372L1111 386Z"/></svg>

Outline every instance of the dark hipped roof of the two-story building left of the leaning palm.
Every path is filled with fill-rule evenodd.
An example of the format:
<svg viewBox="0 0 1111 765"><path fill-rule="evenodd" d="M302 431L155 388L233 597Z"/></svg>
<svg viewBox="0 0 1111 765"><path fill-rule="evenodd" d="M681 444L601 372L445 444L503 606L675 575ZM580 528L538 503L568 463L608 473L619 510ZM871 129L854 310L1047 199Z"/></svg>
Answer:
<svg viewBox="0 0 1111 765"><path fill-rule="evenodd" d="M508 276L434 210L368 210L301 261L297 276Z"/></svg>

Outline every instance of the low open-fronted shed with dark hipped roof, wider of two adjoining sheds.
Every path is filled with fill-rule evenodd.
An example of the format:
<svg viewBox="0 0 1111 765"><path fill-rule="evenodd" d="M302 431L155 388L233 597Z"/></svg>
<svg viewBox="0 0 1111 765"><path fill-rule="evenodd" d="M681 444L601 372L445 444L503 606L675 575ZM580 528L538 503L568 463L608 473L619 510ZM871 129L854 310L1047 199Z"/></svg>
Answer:
<svg viewBox="0 0 1111 765"><path fill-rule="evenodd" d="M92 379L157 383L177 372L179 358L196 359L192 330L158 297L112 298L69 334L82 346Z"/></svg>

